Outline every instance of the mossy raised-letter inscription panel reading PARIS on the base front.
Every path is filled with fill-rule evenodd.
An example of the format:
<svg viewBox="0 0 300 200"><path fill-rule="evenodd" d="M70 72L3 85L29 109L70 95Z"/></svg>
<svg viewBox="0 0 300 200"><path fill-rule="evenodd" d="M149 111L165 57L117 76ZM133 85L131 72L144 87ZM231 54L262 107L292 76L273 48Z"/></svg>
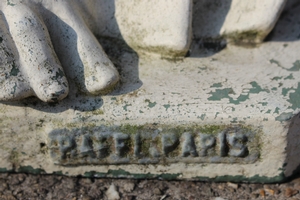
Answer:
<svg viewBox="0 0 300 200"><path fill-rule="evenodd" d="M100 126L49 133L52 159L59 165L253 163L259 158L257 131L242 126Z"/></svg>

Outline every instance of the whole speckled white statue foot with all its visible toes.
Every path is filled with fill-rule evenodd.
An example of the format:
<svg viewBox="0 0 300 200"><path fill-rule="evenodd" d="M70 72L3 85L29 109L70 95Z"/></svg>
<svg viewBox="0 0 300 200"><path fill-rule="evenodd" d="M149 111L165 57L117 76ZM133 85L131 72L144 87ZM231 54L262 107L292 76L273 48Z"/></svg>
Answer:
<svg viewBox="0 0 300 200"><path fill-rule="evenodd" d="M2 5L2 12L0 100L61 100L69 91L66 77L89 94L106 93L118 82L117 70L69 2Z"/></svg>

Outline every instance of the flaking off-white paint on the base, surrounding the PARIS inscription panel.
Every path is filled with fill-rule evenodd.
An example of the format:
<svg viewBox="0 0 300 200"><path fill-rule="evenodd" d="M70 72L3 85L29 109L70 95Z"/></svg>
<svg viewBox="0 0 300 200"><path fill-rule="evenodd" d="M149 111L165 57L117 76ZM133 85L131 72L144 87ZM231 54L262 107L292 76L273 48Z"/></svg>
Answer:
<svg viewBox="0 0 300 200"><path fill-rule="evenodd" d="M139 85L136 80L125 78L127 84L101 98L78 96L75 90L55 107L38 100L27 101L27 107L17 106L22 105L18 103L2 104L0 167L10 170L31 166L47 173L62 171L68 175L122 169L131 174L179 173L177 178L258 175L270 181L268 178L282 172L289 176L300 162L299 117L294 117L292 123L287 120L299 108L297 101L291 102L299 90L295 80L300 79L300 71L290 70L297 62L298 48L298 41L274 42L254 49L229 46L212 57L177 62L140 58L138 70L142 85L138 89L133 90ZM131 72L126 69L135 69L136 57L126 52L120 57L125 64L123 76L130 79ZM131 92L122 94L124 90ZM241 98L243 95L247 98ZM261 129L261 157L253 164L66 167L54 165L47 150L48 133L53 129L149 123L249 125ZM45 146L41 147L41 143Z"/></svg>

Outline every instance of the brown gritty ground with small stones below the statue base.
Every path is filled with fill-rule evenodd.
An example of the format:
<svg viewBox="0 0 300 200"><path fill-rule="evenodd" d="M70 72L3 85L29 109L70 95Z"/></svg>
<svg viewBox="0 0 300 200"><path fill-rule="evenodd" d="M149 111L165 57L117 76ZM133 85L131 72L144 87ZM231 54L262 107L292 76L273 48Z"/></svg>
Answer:
<svg viewBox="0 0 300 200"><path fill-rule="evenodd" d="M281 184L91 179L0 174L0 199L300 199L300 176Z"/></svg>

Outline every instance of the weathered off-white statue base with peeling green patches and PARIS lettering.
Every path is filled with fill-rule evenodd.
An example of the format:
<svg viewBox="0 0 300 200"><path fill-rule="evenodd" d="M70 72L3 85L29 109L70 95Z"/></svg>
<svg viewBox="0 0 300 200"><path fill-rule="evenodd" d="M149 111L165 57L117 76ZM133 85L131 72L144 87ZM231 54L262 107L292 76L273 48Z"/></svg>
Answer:
<svg viewBox="0 0 300 200"><path fill-rule="evenodd" d="M121 74L110 95L70 82L56 104L2 103L0 170L283 181L300 164L299 51L299 41L194 45L176 60L121 49L110 55Z"/></svg>

